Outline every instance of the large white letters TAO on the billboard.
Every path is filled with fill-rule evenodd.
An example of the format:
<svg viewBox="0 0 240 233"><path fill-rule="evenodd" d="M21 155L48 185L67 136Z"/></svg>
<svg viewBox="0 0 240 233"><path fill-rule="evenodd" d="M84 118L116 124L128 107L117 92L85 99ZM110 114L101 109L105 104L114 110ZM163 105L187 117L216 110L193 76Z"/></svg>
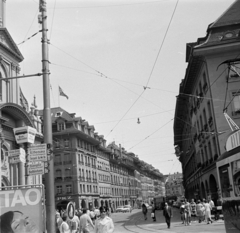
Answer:
<svg viewBox="0 0 240 233"><path fill-rule="evenodd" d="M21 189L9 191L4 190L4 192L1 192L0 195L4 196L3 207L15 207L16 204L21 204L22 206L36 205L41 200L41 192L35 188L28 189L25 193Z"/></svg>

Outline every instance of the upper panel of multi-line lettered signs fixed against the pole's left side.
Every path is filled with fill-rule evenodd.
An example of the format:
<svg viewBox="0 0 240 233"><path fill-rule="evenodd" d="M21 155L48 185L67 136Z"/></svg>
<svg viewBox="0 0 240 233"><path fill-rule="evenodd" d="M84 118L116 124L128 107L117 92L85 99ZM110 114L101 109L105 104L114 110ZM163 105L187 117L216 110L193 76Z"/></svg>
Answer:
<svg viewBox="0 0 240 233"><path fill-rule="evenodd" d="M28 160L30 162L47 161L46 144L33 144L28 148Z"/></svg>

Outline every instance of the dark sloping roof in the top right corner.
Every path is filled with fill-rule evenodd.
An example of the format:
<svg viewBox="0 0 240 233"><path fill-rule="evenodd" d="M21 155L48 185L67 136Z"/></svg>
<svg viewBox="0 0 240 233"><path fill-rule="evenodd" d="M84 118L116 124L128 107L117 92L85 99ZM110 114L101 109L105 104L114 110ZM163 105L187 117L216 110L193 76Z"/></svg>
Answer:
<svg viewBox="0 0 240 233"><path fill-rule="evenodd" d="M240 0L236 0L223 14L210 26L209 29L240 23Z"/></svg>

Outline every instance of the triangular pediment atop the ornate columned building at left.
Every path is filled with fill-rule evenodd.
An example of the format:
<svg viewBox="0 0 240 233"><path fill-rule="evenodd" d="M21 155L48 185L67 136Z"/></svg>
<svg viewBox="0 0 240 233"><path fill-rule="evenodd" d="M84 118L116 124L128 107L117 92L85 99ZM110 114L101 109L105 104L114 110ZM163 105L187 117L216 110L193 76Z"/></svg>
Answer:
<svg viewBox="0 0 240 233"><path fill-rule="evenodd" d="M0 28L0 48L11 54L17 62L21 62L24 59L6 28Z"/></svg>

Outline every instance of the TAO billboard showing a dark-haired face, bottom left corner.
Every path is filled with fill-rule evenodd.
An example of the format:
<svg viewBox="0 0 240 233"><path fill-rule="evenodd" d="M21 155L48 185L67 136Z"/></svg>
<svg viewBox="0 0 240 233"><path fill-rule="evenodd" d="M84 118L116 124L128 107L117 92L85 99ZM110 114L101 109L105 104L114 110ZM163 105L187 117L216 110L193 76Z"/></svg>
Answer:
<svg viewBox="0 0 240 233"><path fill-rule="evenodd" d="M44 231L40 187L1 190L0 209L0 232Z"/></svg>

